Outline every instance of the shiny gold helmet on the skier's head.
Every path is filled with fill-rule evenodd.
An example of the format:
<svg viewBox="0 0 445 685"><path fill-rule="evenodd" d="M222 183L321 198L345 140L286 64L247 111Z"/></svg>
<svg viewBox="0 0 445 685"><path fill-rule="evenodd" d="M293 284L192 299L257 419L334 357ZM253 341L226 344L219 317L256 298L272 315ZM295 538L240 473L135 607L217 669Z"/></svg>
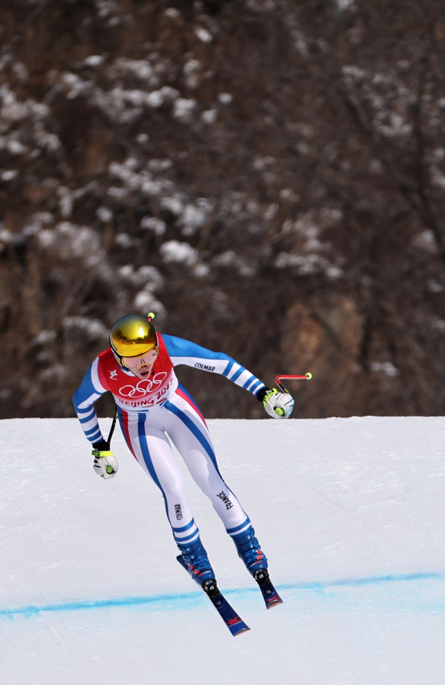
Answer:
<svg viewBox="0 0 445 685"><path fill-rule="evenodd" d="M139 357L146 354L157 345L157 334L150 322L153 317L154 314L148 314L148 318L129 314L121 316L113 324L109 344L118 362L122 361L122 357Z"/></svg>

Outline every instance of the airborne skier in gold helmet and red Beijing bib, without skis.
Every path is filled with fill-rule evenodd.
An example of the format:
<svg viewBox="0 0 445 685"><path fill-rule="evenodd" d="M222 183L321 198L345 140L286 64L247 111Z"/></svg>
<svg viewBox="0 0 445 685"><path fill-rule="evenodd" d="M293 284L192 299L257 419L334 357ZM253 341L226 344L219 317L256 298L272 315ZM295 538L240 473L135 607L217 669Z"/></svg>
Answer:
<svg viewBox="0 0 445 685"><path fill-rule="evenodd" d="M267 577L267 558L249 516L222 479L204 417L178 384L174 366L186 364L226 376L256 395L275 419L291 415L293 398L276 388L270 390L224 353L157 333L153 317L154 314L148 318L130 314L118 319L111 328L110 347L92 362L73 395L83 432L92 443L94 471L100 477L112 478L119 468L100 432L94 410L96 400L109 391L116 401L126 444L163 494L174 540L191 577L201 586L209 580L215 582L170 440L195 482L211 500L248 571L256 580Z"/></svg>

